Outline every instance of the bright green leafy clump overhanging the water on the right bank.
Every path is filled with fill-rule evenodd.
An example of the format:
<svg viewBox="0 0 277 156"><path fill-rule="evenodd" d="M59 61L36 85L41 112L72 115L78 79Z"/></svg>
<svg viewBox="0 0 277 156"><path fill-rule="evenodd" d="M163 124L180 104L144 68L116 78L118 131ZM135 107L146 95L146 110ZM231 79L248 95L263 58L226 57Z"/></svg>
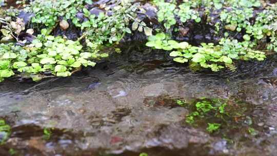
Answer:
<svg viewBox="0 0 277 156"><path fill-rule="evenodd" d="M185 63L190 61L191 66L201 66L210 68L212 71L219 71L224 67L233 68L233 60L250 60L257 59L263 61L264 52L252 50L253 45L247 41L238 42L223 38L220 45L214 46L212 43L201 44L201 47L191 46L186 42L178 43L168 40L164 33L158 33L155 36L149 36L149 42L146 46L156 49L172 50L169 55L174 58L175 62Z"/></svg>

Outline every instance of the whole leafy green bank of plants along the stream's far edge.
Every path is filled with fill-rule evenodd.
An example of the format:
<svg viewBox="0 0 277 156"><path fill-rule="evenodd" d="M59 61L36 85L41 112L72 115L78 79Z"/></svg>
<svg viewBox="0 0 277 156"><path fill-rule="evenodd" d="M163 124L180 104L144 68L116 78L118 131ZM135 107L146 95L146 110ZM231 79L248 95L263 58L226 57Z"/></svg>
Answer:
<svg viewBox="0 0 277 156"><path fill-rule="evenodd" d="M234 70L236 61L263 61L277 51L277 6L267 1L35 0L18 1L16 8L6 1L0 5L0 81L14 75L34 81L70 76L120 52L116 45L137 33L148 36L146 46L163 49L195 70Z"/></svg>

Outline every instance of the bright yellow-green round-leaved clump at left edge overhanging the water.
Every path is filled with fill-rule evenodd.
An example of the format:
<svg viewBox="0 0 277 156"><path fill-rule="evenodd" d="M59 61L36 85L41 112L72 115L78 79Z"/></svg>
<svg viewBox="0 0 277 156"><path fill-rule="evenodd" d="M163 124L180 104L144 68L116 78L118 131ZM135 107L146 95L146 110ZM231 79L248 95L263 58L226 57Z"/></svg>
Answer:
<svg viewBox="0 0 277 156"><path fill-rule="evenodd" d="M34 81L42 79L44 72L70 76L81 66L95 66L91 60L107 57L106 53L82 51L83 46L78 41L47 35L46 29L42 33L25 47L0 45L0 81L14 75L14 72L29 74Z"/></svg>

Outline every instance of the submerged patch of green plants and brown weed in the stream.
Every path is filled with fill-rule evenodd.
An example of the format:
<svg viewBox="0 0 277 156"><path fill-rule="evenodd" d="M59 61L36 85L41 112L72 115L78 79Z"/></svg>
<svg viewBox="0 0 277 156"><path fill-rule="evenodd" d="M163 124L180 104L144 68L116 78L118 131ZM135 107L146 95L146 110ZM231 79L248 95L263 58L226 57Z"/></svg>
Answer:
<svg viewBox="0 0 277 156"><path fill-rule="evenodd" d="M207 132L221 132L228 136L230 127L244 129L245 133L256 135L252 119L247 116L251 106L238 100L208 99L202 97L194 101L176 100L176 104L190 110L186 123L194 127L205 128Z"/></svg>

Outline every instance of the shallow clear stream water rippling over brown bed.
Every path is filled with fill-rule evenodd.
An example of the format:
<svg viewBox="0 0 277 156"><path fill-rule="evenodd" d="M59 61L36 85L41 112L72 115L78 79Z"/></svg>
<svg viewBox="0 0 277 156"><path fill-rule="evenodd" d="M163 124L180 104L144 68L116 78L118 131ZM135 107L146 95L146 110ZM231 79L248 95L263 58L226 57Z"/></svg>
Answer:
<svg viewBox="0 0 277 156"><path fill-rule="evenodd" d="M276 56L194 72L163 51L130 47L71 77L1 83L11 134L0 155L275 155L276 87ZM188 124L203 97L224 101L226 114ZM209 133L208 123L222 126Z"/></svg>

